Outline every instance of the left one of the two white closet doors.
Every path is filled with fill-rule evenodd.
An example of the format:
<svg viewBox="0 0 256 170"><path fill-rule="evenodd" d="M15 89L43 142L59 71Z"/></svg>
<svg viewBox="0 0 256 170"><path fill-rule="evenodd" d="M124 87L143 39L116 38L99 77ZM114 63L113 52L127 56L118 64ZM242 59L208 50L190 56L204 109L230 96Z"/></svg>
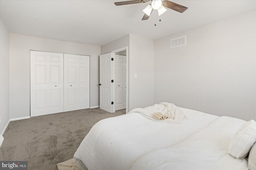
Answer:
<svg viewBox="0 0 256 170"><path fill-rule="evenodd" d="M63 54L30 51L30 116L63 112Z"/></svg>

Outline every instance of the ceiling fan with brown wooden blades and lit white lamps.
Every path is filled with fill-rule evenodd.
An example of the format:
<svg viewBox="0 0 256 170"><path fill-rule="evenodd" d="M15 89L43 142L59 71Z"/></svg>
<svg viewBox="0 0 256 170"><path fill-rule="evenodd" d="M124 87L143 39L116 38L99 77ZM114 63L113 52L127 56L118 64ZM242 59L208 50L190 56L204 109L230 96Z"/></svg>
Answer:
<svg viewBox="0 0 256 170"><path fill-rule="evenodd" d="M128 5L128 4L139 4L139 3L145 3L151 1L151 4L149 4L143 12L145 13L142 20L148 20L153 10L158 10L159 16L164 14L166 12L166 8L170 8L174 11L178 11L180 13L186 11L188 7L182 6L180 4L176 4L174 2L171 2L169 0L129 0L129 1L122 1L122 2L114 2L116 6L119 5ZM166 7L166 8L164 8Z"/></svg>

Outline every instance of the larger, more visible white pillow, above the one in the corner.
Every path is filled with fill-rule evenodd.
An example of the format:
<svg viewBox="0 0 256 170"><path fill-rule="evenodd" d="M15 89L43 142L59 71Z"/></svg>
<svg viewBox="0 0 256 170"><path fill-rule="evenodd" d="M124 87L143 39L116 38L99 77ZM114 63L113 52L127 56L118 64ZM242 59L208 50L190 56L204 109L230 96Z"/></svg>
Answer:
<svg viewBox="0 0 256 170"><path fill-rule="evenodd" d="M232 137L228 153L235 158L244 158L256 141L256 122L250 120L244 123Z"/></svg>

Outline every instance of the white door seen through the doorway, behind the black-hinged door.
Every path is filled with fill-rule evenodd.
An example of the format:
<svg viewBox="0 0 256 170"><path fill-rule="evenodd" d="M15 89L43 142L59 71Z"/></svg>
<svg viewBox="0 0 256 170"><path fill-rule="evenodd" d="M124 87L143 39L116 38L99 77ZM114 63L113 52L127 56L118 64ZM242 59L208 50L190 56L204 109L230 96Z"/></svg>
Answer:
<svg viewBox="0 0 256 170"><path fill-rule="evenodd" d="M125 55L115 55L116 110L126 108L126 65Z"/></svg>

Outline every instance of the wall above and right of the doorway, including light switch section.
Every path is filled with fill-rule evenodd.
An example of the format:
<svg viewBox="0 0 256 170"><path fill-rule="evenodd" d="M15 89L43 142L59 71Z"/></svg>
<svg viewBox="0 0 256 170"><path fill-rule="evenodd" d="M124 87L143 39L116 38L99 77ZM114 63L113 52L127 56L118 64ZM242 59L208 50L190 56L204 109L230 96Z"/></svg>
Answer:
<svg viewBox="0 0 256 170"><path fill-rule="evenodd" d="M126 35L101 47L101 54L128 46L128 111L154 104L154 41ZM137 73L137 78L134 78Z"/></svg>

